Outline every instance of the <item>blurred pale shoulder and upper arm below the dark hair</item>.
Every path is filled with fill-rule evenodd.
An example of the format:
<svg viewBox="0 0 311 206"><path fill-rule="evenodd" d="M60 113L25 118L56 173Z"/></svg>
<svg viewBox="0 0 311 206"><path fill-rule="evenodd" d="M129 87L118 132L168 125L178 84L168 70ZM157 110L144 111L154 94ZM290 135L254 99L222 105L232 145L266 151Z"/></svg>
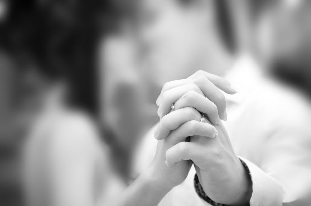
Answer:
<svg viewBox="0 0 311 206"><path fill-rule="evenodd" d="M95 205L108 176L107 147L81 111L49 108L24 145L24 185L31 206Z"/></svg>

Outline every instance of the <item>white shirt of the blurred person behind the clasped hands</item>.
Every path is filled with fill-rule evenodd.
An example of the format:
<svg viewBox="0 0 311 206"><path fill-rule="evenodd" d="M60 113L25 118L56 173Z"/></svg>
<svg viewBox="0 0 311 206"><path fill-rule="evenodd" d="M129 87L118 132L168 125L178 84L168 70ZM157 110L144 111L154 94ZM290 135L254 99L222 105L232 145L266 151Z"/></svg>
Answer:
<svg viewBox="0 0 311 206"><path fill-rule="evenodd" d="M236 154L251 172L250 204L301 205L297 200L311 193L309 103L293 88L266 77L248 56L240 58L226 78L239 93L225 95L228 121L223 123ZM153 131L142 144L145 151L137 153L136 172L146 168L155 154ZM205 205L194 192L194 173L192 168L160 205Z"/></svg>

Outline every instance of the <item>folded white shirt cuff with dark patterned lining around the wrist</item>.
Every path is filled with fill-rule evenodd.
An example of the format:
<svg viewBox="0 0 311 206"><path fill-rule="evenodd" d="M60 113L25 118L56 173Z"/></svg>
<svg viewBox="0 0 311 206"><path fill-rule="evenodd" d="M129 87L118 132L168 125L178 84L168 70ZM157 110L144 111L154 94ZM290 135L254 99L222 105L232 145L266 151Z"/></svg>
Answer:
<svg viewBox="0 0 311 206"><path fill-rule="evenodd" d="M272 177L263 172L254 163L247 159L239 157L246 171L249 173L252 181L252 197L250 206L281 206L283 199L283 190L280 184ZM208 204L213 206L225 206L211 200L204 192L197 174L194 177L194 188L197 195Z"/></svg>

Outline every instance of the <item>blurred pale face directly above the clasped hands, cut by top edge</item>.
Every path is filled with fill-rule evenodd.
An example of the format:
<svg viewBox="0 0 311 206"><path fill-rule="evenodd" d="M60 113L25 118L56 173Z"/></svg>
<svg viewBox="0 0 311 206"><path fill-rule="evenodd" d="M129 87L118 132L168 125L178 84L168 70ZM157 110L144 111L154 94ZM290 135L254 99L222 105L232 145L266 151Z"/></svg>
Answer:
<svg viewBox="0 0 311 206"><path fill-rule="evenodd" d="M209 21L210 1L143 0L140 39L146 73L158 86L186 78L202 58Z"/></svg>

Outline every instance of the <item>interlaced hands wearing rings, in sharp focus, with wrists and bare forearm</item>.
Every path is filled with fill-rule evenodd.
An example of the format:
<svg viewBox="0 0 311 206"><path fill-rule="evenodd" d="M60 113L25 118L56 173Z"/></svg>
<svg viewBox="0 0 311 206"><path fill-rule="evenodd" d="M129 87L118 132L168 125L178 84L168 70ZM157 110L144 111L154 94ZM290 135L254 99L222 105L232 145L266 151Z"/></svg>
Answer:
<svg viewBox="0 0 311 206"><path fill-rule="evenodd" d="M156 157L116 205L157 205L186 179L192 164L213 201L248 204L251 182L219 120L226 120L225 98L220 90L237 92L224 78L204 71L165 84L157 100L160 123L154 132L159 140ZM200 122L200 112L206 114L204 122ZM188 136L190 142L185 142Z"/></svg>

